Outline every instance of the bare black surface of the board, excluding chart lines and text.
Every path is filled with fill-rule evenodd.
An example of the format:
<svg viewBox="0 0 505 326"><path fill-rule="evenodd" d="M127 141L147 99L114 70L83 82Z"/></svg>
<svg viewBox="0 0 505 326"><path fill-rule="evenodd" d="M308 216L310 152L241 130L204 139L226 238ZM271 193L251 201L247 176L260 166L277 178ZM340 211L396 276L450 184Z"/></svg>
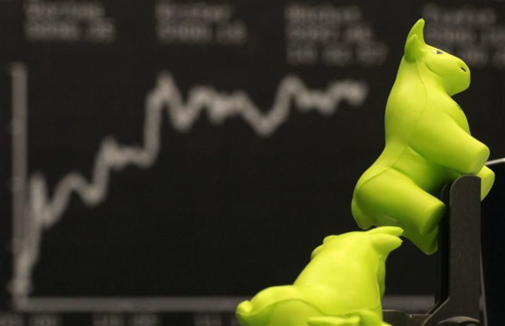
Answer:
<svg viewBox="0 0 505 326"><path fill-rule="evenodd" d="M155 1L109 0L103 5L115 24L113 41L65 43L27 39L30 2L37 1L0 1L0 294L5 312L12 308L10 63L27 67L29 175L43 174L49 194L69 172L91 178L104 137L142 145L145 97L159 73L172 75L183 100L196 86L242 91L263 113L287 75L320 91L331 82L364 82L363 104L341 102L335 113L321 115L302 113L291 103L287 120L268 137L257 135L240 117L215 124L205 111L180 132L164 114L161 152L152 167L130 165L113 172L106 199L96 207L86 207L73 194L61 220L43 233L30 294L251 296L292 283L325 235L357 229L350 212L353 187L384 146L384 108L410 27L423 15L426 28L435 31L451 22L454 30L459 26L456 19L447 23L441 16L426 16L430 3L421 1L205 1L233 6L232 19L247 28L244 43L161 44ZM355 53L346 65L289 62L285 8L293 3L357 6L362 25L373 30L373 42L384 45L387 55L373 64L356 60ZM493 12L495 22L484 27L459 23L475 32L473 43L446 48L437 44L440 40L431 42L428 31L425 36L430 45L455 54L473 48L486 54L485 61L467 60L472 83L455 99L473 135L489 145L491 159L501 158L505 65L498 57L505 38L482 45L480 35L505 29L505 5L432 5L447 12ZM434 262L404 242L388 260L386 293L432 295ZM180 318L170 323L197 320Z"/></svg>

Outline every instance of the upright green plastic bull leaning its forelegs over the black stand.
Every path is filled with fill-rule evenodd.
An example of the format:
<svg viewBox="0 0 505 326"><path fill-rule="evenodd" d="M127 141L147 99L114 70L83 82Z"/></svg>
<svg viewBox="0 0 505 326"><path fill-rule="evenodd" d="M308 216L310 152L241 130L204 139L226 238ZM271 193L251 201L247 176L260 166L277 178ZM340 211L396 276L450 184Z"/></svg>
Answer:
<svg viewBox="0 0 505 326"><path fill-rule="evenodd" d="M386 105L386 146L354 189L352 213L362 229L395 225L424 253L437 250L445 205L436 196L462 174L482 178L481 198L494 173L489 149L471 137L467 117L451 96L468 88L459 58L427 45L423 19L408 34Z"/></svg>

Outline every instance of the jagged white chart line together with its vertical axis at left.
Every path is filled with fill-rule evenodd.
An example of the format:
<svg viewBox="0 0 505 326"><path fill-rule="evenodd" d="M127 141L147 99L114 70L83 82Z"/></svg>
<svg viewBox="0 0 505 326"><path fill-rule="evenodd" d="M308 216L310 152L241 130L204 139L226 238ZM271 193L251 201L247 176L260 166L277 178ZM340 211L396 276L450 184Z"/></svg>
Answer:
<svg viewBox="0 0 505 326"><path fill-rule="evenodd" d="M270 137L285 124L295 108L302 113L314 110L329 116L338 110L341 102L360 106L368 95L364 82L340 80L320 91L308 89L302 80L290 75L279 83L270 110L263 111L245 91L222 93L210 86L193 87L184 101L172 75L161 73L156 86L145 97L142 145L124 145L113 137L106 137L95 154L90 180L80 172L72 171L60 178L49 191L42 172L30 176L27 173L28 69L23 63L16 62L11 66L10 74L14 218L14 277L10 290L14 301L28 298L43 232L64 216L71 194L77 194L86 207L95 207L106 199L111 172L127 165L141 169L154 165L161 148L164 113L178 132L191 130L196 119L207 111L209 120L216 126L230 117L240 117L259 137Z"/></svg>

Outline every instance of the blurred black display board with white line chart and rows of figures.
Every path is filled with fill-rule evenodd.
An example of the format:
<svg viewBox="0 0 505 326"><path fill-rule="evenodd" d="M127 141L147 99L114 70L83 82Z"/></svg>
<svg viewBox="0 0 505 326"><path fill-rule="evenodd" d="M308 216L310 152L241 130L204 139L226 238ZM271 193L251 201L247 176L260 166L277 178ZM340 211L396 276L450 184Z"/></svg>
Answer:
<svg viewBox="0 0 505 326"><path fill-rule="evenodd" d="M471 69L456 101L473 135L505 156L504 10L0 0L0 324L232 325L220 313L291 283L357 229L353 187L421 16ZM434 261L405 242L386 302L430 303Z"/></svg>

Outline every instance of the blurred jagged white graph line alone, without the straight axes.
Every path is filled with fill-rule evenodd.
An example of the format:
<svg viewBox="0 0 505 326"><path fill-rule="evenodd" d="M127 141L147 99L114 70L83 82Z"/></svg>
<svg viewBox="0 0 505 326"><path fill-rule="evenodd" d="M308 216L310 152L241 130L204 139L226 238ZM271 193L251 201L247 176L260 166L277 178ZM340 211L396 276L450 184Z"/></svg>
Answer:
<svg viewBox="0 0 505 326"><path fill-rule="evenodd" d="M160 150L164 108L179 132L187 132L200 113L207 110L213 124L222 124L229 117L239 116L257 135L268 137L287 120L291 106L296 106L301 112L317 110L322 115L331 115L342 100L353 106L361 105L367 93L364 82L342 80L329 84L326 91L316 91L307 89L299 78L287 76L279 84L271 110L263 113L243 91L228 94L207 86L196 86L189 91L185 103L172 75L162 73L156 87L145 99L143 147L121 145L113 137L106 137L95 156L91 181L87 181L79 172L70 172L56 185L51 198L43 174L31 176L27 204L27 218L30 220L14 266L14 296L26 297L30 293L30 279L38 260L42 233L60 220L73 192L80 196L85 205L93 207L106 198L111 171L121 170L126 165L145 169L154 164Z"/></svg>

